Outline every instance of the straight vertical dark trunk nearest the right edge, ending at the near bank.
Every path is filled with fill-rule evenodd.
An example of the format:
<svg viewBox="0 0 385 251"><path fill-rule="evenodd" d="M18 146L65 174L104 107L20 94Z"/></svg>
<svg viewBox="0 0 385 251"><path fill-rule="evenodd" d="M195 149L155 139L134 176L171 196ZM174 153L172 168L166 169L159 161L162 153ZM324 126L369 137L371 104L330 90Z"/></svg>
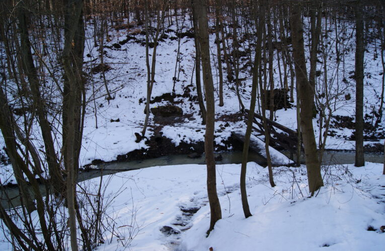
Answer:
<svg viewBox="0 0 385 251"><path fill-rule="evenodd" d="M356 121L355 141L356 155L355 166L365 165L363 155L363 78L364 78L364 36L361 1L355 6L356 18L356 53L355 53L355 80L356 80Z"/></svg>

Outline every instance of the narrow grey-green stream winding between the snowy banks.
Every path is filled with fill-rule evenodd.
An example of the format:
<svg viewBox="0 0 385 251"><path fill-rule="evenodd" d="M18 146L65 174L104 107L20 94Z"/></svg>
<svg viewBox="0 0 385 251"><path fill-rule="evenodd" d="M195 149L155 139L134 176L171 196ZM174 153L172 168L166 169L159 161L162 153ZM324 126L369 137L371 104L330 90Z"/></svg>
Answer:
<svg viewBox="0 0 385 251"><path fill-rule="evenodd" d="M288 152L282 152L289 157ZM216 161L217 165L222 164L240 164L242 162L242 152L222 152L222 159ZM215 156L219 156L216 153ZM365 161L374 163L383 163L383 154L380 153L365 153ZM323 165L338 165L338 164L354 164L354 151L325 151ZM304 158L301 157L301 162ZM256 162L260 165L266 165L265 159L259 154L250 152L248 161ZM146 159L141 161L127 161L119 163L108 163L98 166L98 169L93 169L87 172L78 174L78 182L100 177L101 175L109 175L123 171L142 169L153 166L171 166L185 164L205 164L205 156L199 158L188 158L187 155L170 155L155 159ZM304 164L304 163L302 163ZM45 194L45 188L40 186L40 190ZM5 208L12 208L20 205L19 190L17 188L6 188L0 190L0 200ZM11 202L10 202L11 200Z"/></svg>

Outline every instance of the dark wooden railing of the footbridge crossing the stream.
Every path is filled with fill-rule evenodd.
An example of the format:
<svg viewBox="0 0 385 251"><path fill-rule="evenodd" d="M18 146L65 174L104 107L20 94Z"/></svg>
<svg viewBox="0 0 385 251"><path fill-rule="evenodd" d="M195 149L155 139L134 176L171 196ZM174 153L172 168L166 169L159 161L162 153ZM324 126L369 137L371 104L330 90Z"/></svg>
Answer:
<svg viewBox="0 0 385 251"><path fill-rule="evenodd" d="M249 113L248 109L245 109L246 113ZM293 160L293 155L297 155L298 136L297 132L293 131L280 123L266 118L267 126L270 133L270 146L277 148L283 148L290 152L290 159ZM260 114L254 113L253 131L257 133L256 136L265 136L265 130L263 126L263 117ZM301 144L301 152L303 153L303 147Z"/></svg>

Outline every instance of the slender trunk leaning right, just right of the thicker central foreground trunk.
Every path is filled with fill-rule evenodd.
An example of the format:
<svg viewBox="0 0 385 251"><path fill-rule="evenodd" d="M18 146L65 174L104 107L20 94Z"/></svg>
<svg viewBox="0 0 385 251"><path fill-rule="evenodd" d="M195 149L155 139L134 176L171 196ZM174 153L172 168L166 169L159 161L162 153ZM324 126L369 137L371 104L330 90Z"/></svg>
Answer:
<svg viewBox="0 0 385 251"><path fill-rule="evenodd" d="M259 18L258 18L258 26L257 26L257 45L255 48L255 59L254 59L254 65L253 65L253 84L252 84L252 90L251 90L251 102L250 102L250 110L248 114L248 120L247 120L247 128L246 128L246 134L245 134L245 142L243 145L243 152L242 152L242 166L241 166L241 177L240 177L240 188L241 188L241 198L242 198L242 207L243 212L245 214L245 217L248 218L252 216L249 208L249 202L247 199L247 191L246 191L246 171L247 171L247 161L249 157L249 146L250 146L250 136L251 131L253 129L253 119L254 119L254 110L255 110L255 103L257 99L257 89L258 89L258 80L259 80L259 66L261 63L261 47L262 47L262 31L264 24L264 8L262 5L260 5L259 10Z"/></svg>

